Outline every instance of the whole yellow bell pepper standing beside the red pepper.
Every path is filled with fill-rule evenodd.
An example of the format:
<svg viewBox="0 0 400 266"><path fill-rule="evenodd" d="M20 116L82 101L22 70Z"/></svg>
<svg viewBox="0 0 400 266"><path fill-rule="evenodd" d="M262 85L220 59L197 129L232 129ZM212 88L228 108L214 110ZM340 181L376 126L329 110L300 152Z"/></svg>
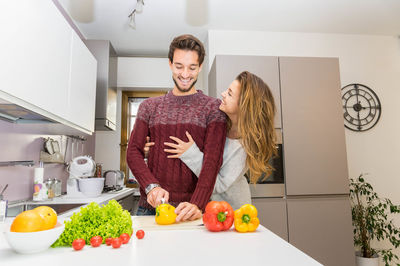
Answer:
<svg viewBox="0 0 400 266"><path fill-rule="evenodd" d="M253 232L260 224L254 205L245 204L235 211L235 229L240 233Z"/></svg>

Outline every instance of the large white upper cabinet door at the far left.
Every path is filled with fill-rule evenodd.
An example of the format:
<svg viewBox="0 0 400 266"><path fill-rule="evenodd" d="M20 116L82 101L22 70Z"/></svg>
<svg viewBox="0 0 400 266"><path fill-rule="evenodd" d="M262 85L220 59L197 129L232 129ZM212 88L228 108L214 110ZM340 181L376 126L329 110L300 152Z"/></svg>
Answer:
<svg viewBox="0 0 400 266"><path fill-rule="evenodd" d="M52 1L1 1L0 90L67 114L72 29Z"/></svg>

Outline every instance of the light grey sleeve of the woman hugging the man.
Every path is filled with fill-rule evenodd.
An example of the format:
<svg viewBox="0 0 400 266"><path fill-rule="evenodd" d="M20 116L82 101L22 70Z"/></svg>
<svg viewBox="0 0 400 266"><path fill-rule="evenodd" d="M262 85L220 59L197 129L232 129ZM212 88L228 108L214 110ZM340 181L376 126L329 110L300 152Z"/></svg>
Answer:
<svg viewBox="0 0 400 266"><path fill-rule="evenodd" d="M225 154L227 151L224 150L224 161L217 174L213 193L226 192L238 178L246 173L246 154L243 148L230 151L232 154ZM203 153L197 147L196 143L193 143L179 158L196 176L200 175L203 164Z"/></svg>

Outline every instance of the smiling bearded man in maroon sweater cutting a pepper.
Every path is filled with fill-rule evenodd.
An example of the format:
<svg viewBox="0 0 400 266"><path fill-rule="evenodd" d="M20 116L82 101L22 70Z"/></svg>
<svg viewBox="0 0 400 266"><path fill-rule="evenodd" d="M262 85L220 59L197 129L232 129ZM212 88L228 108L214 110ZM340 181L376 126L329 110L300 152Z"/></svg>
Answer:
<svg viewBox="0 0 400 266"><path fill-rule="evenodd" d="M218 108L220 101L195 89L204 56L197 38L176 37L168 53L174 88L165 96L146 99L139 107L127 150L128 165L140 184L138 215L154 215L154 208L165 200L177 206L177 222L195 220L210 199L222 164L226 124ZM186 131L204 152L199 178L181 160L167 158L164 151L170 136L186 139ZM155 145L146 165L143 147L147 136Z"/></svg>

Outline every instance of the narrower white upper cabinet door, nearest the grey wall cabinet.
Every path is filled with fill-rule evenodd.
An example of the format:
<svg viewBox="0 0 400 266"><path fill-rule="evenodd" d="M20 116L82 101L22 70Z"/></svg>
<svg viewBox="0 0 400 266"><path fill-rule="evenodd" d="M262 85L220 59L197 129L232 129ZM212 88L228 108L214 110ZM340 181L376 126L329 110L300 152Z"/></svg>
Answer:
<svg viewBox="0 0 400 266"><path fill-rule="evenodd" d="M97 61L73 33L67 120L94 131Z"/></svg>

